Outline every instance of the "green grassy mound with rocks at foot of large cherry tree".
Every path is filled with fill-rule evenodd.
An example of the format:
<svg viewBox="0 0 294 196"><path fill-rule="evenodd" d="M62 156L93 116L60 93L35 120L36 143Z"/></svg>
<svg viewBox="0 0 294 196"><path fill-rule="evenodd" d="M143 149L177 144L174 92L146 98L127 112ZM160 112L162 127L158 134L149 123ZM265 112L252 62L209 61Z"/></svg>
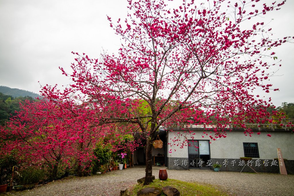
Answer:
<svg viewBox="0 0 294 196"><path fill-rule="evenodd" d="M167 180L153 180L153 183L150 185L143 186L143 183L134 185L133 189L130 191L131 195L137 195L137 192L145 187L165 187L165 186L171 186L178 189L181 196L192 196L192 195L211 195L211 196L219 196L219 195L228 195L226 192L222 192L220 190L217 190L212 185L203 185L199 184L197 182L183 182L180 180L173 180L173 179L167 179ZM161 195L165 195L163 192Z"/></svg>

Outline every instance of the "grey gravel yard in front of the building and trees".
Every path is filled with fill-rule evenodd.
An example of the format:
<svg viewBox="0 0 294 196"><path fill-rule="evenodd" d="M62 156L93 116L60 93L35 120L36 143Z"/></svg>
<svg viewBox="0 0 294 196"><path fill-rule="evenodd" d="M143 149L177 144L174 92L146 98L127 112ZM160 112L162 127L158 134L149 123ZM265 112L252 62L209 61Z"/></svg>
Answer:
<svg viewBox="0 0 294 196"><path fill-rule="evenodd" d="M158 166L156 166L158 167ZM159 167L160 168L160 167ZM163 168L163 167L161 167ZM212 170L168 170L168 178L208 183L230 195L294 195L294 175L245 172L213 172ZM158 178L158 168L153 175ZM145 167L115 170L103 175L68 177L49 182L32 190L7 193L9 195L111 195L137 183L145 176Z"/></svg>

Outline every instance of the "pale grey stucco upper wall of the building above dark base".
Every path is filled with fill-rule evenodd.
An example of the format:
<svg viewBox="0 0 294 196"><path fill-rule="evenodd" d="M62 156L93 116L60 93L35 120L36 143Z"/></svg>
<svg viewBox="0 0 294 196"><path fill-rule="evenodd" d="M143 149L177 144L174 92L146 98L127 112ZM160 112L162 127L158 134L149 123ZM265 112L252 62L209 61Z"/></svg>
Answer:
<svg viewBox="0 0 294 196"><path fill-rule="evenodd" d="M177 137L178 132L168 133L168 145L167 156L170 158L187 158L188 148L183 146L180 148L181 143L185 140L184 137L180 138L179 142L173 143L171 138ZM202 137L201 131L194 131L193 135L195 140L208 140L205 135ZM272 136L268 137L266 134L270 133ZM188 136L191 139L191 136ZM283 158L288 160L294 160L294 133L290 132L261 132L260 135L256 133L252 137L245 136L242 131L232 131L227 133L226 138L219 138L215 141L211 141L210 155L211 158L229 158L237 159L244 156L243 142L258 143L259 159L274 159L277 158L277 148L280 148L283 154ZM170 153L171 152L171 153Z"/></svg>

